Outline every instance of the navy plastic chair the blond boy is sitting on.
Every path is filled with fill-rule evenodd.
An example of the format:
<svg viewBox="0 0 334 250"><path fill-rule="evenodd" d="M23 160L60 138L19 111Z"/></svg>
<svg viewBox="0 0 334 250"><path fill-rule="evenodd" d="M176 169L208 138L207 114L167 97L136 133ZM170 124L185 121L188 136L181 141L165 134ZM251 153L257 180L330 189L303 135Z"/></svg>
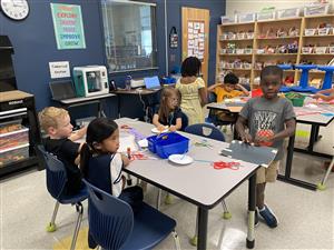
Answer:
<svg viewBox="0 0 334 250"><path fill-rule="evenodd" d="M67 183L67 172L65 169L63 163L57 159L56 156L48 153L45 151L43 147L38 146L39 151L42 153L42 157L46 162L46 173L47 173L47 189L51 197L53 197L56 201L55 210L52 213L51 221L47 226L48 232L53 232L57 230L56 227L56 217L59 209L59 204L76 204L76 210L78 212L78 219L77 224L71 242L71 250L76 249L76 242L78 238L78 233L81 226L82 220L82 213L84 213L84 207L81 204L81 201L86 200L88 198L88 191L85 184L82 184L82 189L79 193L75 196L65 196L63 190Z"/></svg>

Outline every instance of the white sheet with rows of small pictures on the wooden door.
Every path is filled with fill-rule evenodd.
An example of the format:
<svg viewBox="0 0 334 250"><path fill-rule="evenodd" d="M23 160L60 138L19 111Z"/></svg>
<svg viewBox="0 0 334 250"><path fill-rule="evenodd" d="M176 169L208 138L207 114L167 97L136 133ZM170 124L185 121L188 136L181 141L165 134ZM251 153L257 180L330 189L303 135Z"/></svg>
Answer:
<svg viewBox="0 0 334 250"><path fill-rule="evenodd" d="M204 21L188 21L188 57L204 60L205 26Z"/></svg>

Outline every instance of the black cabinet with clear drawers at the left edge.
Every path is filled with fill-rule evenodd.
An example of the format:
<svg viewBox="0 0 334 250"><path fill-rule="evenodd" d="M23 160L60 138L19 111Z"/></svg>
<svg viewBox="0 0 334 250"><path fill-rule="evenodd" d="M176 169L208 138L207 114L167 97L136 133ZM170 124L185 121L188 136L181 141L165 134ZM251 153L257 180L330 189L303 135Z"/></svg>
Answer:
<svg viewBox="0 0 334 250"><path fill-rule="evenodd" d="M40 130L32 94L7 91L0 94L0 178L23 168L43 166L35 151Z"/></svg>

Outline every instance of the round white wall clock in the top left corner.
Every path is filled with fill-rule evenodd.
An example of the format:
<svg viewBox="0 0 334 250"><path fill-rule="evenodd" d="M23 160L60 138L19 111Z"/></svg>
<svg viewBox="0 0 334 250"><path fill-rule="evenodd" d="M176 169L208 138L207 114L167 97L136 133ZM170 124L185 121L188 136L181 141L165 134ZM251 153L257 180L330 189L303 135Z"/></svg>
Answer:
<svg viewBox="0 0 334 250"><path fill-rule="evenodd" d="M29 14L27 0L0 0L2 12L10 19L23 20Z"/></svg>

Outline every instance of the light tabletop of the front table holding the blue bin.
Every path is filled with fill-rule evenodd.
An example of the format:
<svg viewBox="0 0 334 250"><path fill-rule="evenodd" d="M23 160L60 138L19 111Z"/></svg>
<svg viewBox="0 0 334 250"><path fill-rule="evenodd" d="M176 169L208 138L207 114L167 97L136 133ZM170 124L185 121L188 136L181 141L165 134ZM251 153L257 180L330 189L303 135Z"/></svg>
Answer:
<svg viewBox="0 0 334 250"><path fill-rule="evenodd" d="M127 124L135 128L144 136L151 136L150 129L153 124L135 121L128 118L116 120L118 124ZM200 142L204 138L180 132L190 139L189 152L195 161L188 166L176 166L167 159L160 159L155 156L155 160L135 160L126 168L126 171L137 176L153 184L184 198L197 206L213 208L220 200L236 188L243 180L254 172L258 166L248 162L242 162L238 170L222 169L216 170L208 162L199 162L196 160L206 161L233 161L229 158L219 156L222 148L228 147L228 143L207 139L213 146L213 149L206 147L194 146L195 142Z"/></svg>

